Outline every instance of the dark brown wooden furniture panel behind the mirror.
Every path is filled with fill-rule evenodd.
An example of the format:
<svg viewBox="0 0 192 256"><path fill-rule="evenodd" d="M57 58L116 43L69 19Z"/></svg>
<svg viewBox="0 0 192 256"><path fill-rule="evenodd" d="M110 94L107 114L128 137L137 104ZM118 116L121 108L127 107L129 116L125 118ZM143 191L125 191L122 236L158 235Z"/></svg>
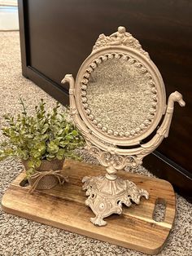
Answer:
<svg viewBox="0 0 192 256"><path fill-rule="evenodd" d="M142 43L164 78L167 95L181 91L168 139L144 166L191 198L192 2L187 0L19 0L22 71L68 104L63 75L74 76L98 34L124 25ZM180 139L179 139L180 138Z"/></svg>

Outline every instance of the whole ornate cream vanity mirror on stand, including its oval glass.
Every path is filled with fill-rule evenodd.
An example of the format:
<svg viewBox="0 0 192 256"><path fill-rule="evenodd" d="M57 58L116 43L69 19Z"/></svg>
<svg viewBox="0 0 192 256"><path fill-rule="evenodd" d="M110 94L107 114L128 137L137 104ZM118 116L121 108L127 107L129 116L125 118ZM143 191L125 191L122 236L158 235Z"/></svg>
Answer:
<svg viewBox="0 0 192 256"><path fill-rule="evenodd" d="M142 158L168 137L174 101L185 106L175 91L168 98L158 68L124 27L111 36L101 34L76 77L67 74L70 109L84 135L87 149L106 167L105 176L85 177L85 201L96 215L91 222L121 214L122 205L139 204L149 194L118 177L118 170L142 165ZM159 122L162 120L159 128ZM157 130L156 130L157 129ZM152 132L156 134L142 143Z"/></svg>

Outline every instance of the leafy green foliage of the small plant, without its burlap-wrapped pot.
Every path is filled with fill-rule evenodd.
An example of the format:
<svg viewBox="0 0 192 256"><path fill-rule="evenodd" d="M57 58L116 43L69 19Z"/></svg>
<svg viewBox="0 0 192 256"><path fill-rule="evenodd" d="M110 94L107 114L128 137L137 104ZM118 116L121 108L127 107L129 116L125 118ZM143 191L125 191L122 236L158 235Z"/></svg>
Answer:
<svg viewBox="0 0 192 256"><path fill-rule="evenodd" d="M62 160L65 157L80 160L73 151L83 146L84 139L72 122L67 121L68 110L59 112L60 104L56 103L51 113L47 113L46 103L41 99L31 116L22 99L20 104L22 113L16 117L11 113L3 116L6 126L2 127L2 134L7 139L1 143L0 161L10 156L28 160L27 174L30 176L42 160Z"/></svg>

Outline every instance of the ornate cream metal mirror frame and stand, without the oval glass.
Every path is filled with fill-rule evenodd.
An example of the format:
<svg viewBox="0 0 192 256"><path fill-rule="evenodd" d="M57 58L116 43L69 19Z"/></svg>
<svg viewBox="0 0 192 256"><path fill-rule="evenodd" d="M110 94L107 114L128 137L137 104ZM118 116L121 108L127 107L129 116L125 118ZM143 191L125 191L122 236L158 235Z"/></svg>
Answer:
<svg viewBox="0 0 192 256"><path fill-rule="evenodd" d="M102 121L98 121L92 114L86 97L89 77L95 68L113 59L127 61L137 68L137 72L145 76L146 86L152 97L152 108L149 109L146 120L140 126L126 132L112 130ZM72 118L85 137L86 148L107 167L105 176L83 179L83 189L89 196L85 204L89 205L96 215L91 221L103 226L107 224L103 218L111 214L121 214L122 204L130 206L132 201L139 204L141 196L148 198L148 192L137 188L129 180L120 179L116 173L126 166L136 168L142 165L142 158L154 151L162 140L168 137L174 102L177 101L181 106L185 106L185 102L182 95L175 91L169 96L168 106L166 105L164 82L158 68L137 39L127 33L124 27L119 27L111 36L101 34L95 42L93 51L81 65L76 82L71 74L63 78L62 83L65 82L69 82L70 85ZM164 121L154 137L147 143L141 143L142 139L146 139L157 128L163 115Z"/></svg>

